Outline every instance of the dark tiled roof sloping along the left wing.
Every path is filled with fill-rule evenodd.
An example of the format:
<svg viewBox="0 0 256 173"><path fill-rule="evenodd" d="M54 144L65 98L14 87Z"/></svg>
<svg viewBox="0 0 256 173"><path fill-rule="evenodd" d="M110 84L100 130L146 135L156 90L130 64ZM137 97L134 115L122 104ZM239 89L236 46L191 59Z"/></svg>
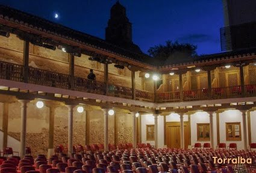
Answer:
<svg viewBox="0 0 256 173"><path fill-rule="evenodd" d="M122 47L108 43L101 38L67 28L66 26L60 25L58 23L42 19L41 17L34 16L32 14L28 14L4 5L0 5L0 17L2 19L9 20L10 22L19 23L19 25L28 26L30 28L52 34L66 40L75 41L86 46L104 50L126 59L132 59L133 61L145 63L145 59L149 58L149 56L146 54L131 52L130 50L126 50Z"/></svg>

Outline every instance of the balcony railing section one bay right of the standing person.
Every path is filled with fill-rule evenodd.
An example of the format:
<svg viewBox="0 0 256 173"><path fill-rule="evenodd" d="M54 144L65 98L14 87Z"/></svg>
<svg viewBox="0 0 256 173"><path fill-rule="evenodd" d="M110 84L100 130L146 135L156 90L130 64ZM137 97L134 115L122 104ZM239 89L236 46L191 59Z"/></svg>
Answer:
<svg viewBox="0 0 256 173"><path fill-rule="evenodd" d="M132 99L131 88L108 84L107 96Z"/></svg>

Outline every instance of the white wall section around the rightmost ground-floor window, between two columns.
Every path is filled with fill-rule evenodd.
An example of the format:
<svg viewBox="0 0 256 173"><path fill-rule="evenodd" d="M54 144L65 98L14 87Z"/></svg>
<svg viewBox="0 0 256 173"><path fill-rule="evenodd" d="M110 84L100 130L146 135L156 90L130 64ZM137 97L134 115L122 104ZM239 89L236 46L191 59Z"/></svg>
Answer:
<svg viewBox="0 0 256 173"><path fill-rule="evenodd" d="M246 118L247 119L247 118ZM241 135L242 141L226 141L226 124L232 122L240 122L241 123ZM242 123L242 113L238 110L229 110L224 111L219 114L219 132L220 132L220 143L226 143L226 146L229 143L236 143L237 150L243 149L243 123Z"/></svg>

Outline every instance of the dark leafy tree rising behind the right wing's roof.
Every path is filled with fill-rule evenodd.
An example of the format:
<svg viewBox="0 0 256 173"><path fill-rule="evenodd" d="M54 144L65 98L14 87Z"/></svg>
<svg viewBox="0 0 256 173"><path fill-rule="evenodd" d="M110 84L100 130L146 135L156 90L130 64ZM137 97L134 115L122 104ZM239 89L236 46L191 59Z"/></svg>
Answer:
<svg viewBox="0 0 256 173"><path fill-rule="evenodd" d="M197 56L196 53L197 47L189 43L178 43L175 41L167 40L166 45L159 44L158 46L150 47L148 50L149 55L154 58L151 59L154 61L157 59L157 65L164 64L173 64L191 61L191 59Z"/></svg>

